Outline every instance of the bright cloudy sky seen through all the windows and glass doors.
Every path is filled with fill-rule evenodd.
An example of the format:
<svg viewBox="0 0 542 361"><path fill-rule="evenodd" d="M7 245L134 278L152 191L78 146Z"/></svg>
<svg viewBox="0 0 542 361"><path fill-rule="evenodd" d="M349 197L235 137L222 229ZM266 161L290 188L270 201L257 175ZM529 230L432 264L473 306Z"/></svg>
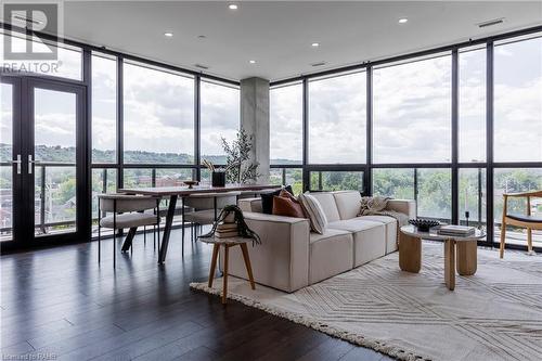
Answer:
<svg viewBox="0 0 542 361"><path fill-rule="evenodd" d="M74 70L80 54L63 54L62 72L80 76ZM460 55L461 162L486 157L485 62L483 50ZM494 69L495 162L542 162L542 38L495 47ZM115 146L115 72L114 61L93 56L94 149ZM193 154L194 80L131 64L124 73L125 149ZM450 162L451 56L376 68L373 81L374 162ZM364 73L310 81L310 163L364 163L365 89ZM204 156L221 154L221 137L235 136L238 96L237 89L202 83ZM272 158L301 159L301 100L300 85L271 90ZM37 101L37 139L73 146L73 104L53 92ZM2 142L9 131L4 104Z"/></svg>

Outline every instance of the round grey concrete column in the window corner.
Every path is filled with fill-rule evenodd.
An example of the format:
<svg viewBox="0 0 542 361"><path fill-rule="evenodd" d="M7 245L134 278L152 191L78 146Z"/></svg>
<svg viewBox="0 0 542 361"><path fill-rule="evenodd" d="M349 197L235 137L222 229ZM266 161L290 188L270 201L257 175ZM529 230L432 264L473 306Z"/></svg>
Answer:
<svg viewBox="0 0 542 361"><path fill-rule="evenodd" d="M269 80L241 80L241 128L253 136L251 160L259 163L258 183L269 183Z"/></svg>

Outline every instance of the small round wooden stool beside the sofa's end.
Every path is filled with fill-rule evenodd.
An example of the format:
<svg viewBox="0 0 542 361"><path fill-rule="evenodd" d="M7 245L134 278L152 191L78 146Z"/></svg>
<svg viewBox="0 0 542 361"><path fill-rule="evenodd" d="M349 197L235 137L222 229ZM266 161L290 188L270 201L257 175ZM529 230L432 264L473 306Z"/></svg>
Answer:
<svg viewBox="0 0 542 361"><path fill-rule="evenodd" d="M212 281L215 279L215 270L217 269L218 254L220 250L220 246L224 247L224 269L222 276L222 304L225 305L228 300L228 263L229 263L229 253L230 248L234 246L240 246L241 252L243 253L243 259L245 260L246 272L248 273L248 280L250 282L250 288L256 289L256 284L254 283L253 276L253 268L250 266L250 257L248 256L248 247L246 246L247 242L251 242L250 238L243 237L228 237L228 238L219 238L219 237L199 237L199 241L208 244L212 244L212 256L210 259L210 270L209 270L209 288L212 287Z"/></svg>

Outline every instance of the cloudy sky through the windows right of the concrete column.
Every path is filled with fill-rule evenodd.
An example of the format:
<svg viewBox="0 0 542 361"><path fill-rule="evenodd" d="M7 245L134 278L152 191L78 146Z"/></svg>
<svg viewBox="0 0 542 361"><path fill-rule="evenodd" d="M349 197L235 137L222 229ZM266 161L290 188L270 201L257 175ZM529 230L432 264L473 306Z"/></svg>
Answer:
<svg viewBox="0 0 542 361"><path fill-rule="evenodd" d="M486 160L486 51L460 54L460 162ZM495 48L494 159L542 162L542 38ZM362 74L309 83L309 160L363 163ZM373 162L451 160L451 56L377 68ZM271 156L299 159L300 86L271 90Z"/></svg>

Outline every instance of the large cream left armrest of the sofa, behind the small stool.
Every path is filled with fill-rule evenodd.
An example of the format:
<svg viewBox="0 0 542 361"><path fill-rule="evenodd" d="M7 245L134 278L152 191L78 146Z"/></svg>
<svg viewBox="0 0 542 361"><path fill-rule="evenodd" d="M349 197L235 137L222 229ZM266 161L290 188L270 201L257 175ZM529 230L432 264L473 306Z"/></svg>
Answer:
<svg viewBox="0 0 542 361"><path fill-rule="evenodd" d="M294 292L309 284L309 221L258 212L244 212L247 225L261 244L248 246L257 283ZM229 273L246 279L245 263L237 247L230 254ZM220 267L222 269L222 259Z"/></svg>

